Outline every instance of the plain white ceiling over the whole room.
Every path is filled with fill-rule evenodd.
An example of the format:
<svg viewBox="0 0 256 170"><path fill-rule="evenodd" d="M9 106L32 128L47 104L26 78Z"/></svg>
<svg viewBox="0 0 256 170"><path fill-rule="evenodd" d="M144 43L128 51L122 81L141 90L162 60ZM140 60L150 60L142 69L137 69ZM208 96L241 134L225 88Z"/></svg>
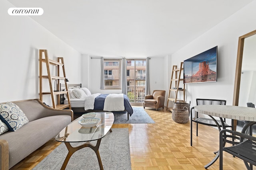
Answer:
<svg viewBox="0 0 256 170"><path fill-rule="evenodd" d="M253 0L8 0L82 54L172 54Z"/></svg>

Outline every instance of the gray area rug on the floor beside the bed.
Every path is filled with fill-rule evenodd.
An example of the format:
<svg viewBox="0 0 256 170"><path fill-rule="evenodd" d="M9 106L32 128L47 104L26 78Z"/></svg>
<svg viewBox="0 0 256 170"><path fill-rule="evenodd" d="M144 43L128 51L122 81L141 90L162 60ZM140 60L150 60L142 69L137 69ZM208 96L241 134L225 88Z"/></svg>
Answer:
<svg viewBox="0 0 256 170"><path fill-rule="evenodd" d="M127 120L127 113L114 113L114 124L123 123L155 123L143 107L132 107L133 114Z"/></svg>

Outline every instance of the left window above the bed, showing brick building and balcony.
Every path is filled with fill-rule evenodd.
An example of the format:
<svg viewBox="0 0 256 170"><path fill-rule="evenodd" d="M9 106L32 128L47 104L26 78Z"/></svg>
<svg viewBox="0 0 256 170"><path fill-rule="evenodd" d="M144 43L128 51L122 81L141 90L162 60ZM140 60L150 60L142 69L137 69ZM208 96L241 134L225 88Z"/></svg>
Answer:
<svg viewBox="0 0 256 170"><path fill-rule="evenodd" d="M105 89L121 89L121 60L104 59Z"/></svg>

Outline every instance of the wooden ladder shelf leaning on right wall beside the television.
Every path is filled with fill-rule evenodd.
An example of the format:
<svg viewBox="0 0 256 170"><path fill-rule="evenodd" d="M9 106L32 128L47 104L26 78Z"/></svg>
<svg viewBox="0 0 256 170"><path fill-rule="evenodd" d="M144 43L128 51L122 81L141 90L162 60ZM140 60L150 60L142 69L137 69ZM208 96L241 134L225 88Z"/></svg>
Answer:
<svg viewBox="0 0 256 170"><path fill-rule="evenodd" d="M183 81L183 78L180 78L181 73L183 71L183 64L183 62L180 63L180 68L178 68L177 65L172 66L172 77L170 81L170 88L168 92L168 100L166 105L167 109L170 111L172 111L172 107L168 107L169 101L172 101L174 103L185 102L185 84L183 84L183 82L183 87L180 88L180 81ZM183 99L178 99L178 92L183 92Z"/></svg>

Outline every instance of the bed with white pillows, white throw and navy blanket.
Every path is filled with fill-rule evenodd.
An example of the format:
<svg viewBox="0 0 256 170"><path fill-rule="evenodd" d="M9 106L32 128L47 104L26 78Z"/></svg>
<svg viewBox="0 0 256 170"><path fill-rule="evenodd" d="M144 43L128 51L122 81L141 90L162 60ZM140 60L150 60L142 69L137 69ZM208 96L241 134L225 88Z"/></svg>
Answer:
<svg viewBox="0 0 256 170"><path fill-rule="evenodd" d="M125 94L91 94L82 84L68 84L71 109L74 113L89 113L97 111L111 111L113 113L127 113L132 116L133 109L130 100ZM64 96L64 104L68 104Z"/></svg>

